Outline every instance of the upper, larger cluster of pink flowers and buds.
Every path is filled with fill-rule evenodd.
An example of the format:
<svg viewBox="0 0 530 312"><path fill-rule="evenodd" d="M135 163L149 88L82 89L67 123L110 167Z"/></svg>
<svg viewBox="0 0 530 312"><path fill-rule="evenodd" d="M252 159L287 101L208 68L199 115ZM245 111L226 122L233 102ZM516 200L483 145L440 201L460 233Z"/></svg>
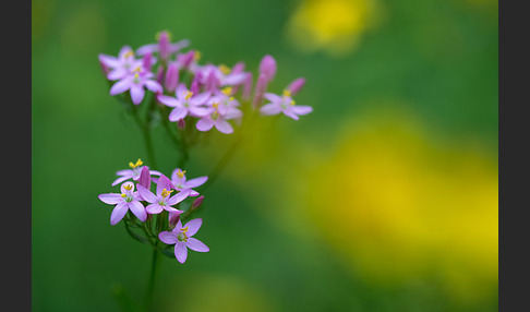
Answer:
<svg viewBox="0 0 530 312"><path fill-rule="evenodd" d="M294 120L313 110L296 105L292 99L303 87L303 77L294 80L280 94L267 93L267 85L276 75L276 60L272 56L262 59L254 85L243 62L232 68L200 64L198 51L182 51L189 47L189 40L171 43L168 32L160 32L157 38L156 44L136 50L124 46L118 57L99 55L107 79L113 82L110 95L129 92L131 101L140 105L148 89L159 104L171 109L168 119L178 122L179 128L196 122L198 131L216 128L227 134L233 132L229 121L239 124L243 117L241 100L252 103L252 109L262 115L284 113ZM268 101L264 104L264 99Z"/></svg>

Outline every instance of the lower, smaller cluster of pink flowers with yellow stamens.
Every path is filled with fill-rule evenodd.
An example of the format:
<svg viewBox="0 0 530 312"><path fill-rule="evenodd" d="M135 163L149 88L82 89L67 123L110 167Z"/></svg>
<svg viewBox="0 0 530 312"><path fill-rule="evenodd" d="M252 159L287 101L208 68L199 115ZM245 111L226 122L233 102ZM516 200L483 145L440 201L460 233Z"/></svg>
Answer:
<svg viewBox="0 0 530 312"><path fill-rule="evenodd" d="M196 209L202 204L204 196L198 196L200 193L193 189L204 184L208 177L188 180L185 170L177 168L169 179L161 172L143 166L141 159L135 164L130 163L129 166L131 169L118 171L117 175L120 177L112 182L112 187L123 182L120 185L121 193L98 195L101 202L115 205L110 215L110 224L117 225L124 218L129 224L136 224L136 220L143 223L141 226L146 231L150 229L152 237L158 238L167 244L167 248L174 245L173 253L180 263L185 262L188 249L208 252L208 247L192 237L198 231L203 220L196 218L182 225L180 215L184 211L176 208L181 202L192 196L196 199L190 209ZM152 181L156 183L155 192L152 191ZM171 194L174 191L176 194ZM129 215L128 212L130 212ZM162 224L167 228L154 229L152 223L155 215L159 217L158 224ZM160 223L160 218L166 218L167 221Z"/></svg>

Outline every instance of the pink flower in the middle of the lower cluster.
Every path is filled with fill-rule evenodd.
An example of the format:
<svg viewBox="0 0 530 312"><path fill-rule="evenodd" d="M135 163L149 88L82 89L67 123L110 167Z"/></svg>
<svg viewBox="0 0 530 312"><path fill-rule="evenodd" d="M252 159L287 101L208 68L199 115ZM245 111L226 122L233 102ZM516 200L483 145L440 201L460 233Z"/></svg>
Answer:
<svg viewBox="0 0 530 312"><path fill-rule="evenodd" d="M185 197L188 197L188 194L178 193L171 196L171 181L166 176L162 175L158 179L158 183L156 185L156 195L141 184L138 184L137 188L142 199L149 203L149 205L147 205L145 208L147 213L152 215L159 214L162 211L183 213L183 211L176 209L171 206L182 202Z"/></svg>

